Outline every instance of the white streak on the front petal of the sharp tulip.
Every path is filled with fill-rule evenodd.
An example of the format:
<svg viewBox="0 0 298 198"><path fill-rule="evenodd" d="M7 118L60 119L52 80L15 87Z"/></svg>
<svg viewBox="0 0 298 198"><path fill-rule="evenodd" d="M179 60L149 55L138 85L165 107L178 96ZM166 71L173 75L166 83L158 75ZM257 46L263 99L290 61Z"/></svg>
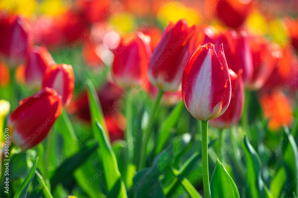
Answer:
<svg viewBox="0 0 298 198"><path fill-rule="evenodd" d="M199 120L207 120L212 112L212 51L208 50L201 69L198 72L195 84L192 87L192 98L188 101L188 107L192 115Z"/></svg>

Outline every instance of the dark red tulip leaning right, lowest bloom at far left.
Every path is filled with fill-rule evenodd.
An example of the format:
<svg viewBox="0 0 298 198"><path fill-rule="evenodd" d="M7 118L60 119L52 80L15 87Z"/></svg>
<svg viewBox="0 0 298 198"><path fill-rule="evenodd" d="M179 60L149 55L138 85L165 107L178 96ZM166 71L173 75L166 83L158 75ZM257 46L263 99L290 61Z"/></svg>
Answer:
<svg viewBox="0 0 298 198"><path fill-rule="evenodd" d="M21 100L7 121L10 140L22 149L34 147L44 140L61 112L61 96L51 88Z"/></svg>

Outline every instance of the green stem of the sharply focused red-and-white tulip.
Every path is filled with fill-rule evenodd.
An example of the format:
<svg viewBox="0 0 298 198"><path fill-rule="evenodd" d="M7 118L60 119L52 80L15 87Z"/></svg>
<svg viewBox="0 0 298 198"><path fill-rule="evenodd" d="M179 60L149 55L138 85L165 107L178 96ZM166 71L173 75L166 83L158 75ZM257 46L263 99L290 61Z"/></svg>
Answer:
<svg viewBox="0 0 298 198"><path fill-rule="evenodd" d="M202 121L202 166L205 198L211 198L208 170L208 120Z"/></svg>

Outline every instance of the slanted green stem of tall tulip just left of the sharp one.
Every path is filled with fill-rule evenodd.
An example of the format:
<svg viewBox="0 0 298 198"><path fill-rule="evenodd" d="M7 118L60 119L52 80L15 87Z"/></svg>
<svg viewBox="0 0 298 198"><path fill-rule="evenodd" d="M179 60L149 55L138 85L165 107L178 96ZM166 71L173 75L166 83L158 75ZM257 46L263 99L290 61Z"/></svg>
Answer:
<svg viewBox="0 0 298 198"><path fill-rule="evenodd" d="M159 107L159 103L162 99L163 94L164 94L164 91L162 91L162 90L158 91L155 102L154 102L153 107L151 109L151 113L150 113L150 116L149 116L149 127L145 130L145 137L144 137L143 144L142 144L142 149L141 149L141 156L140 156L140 161L139 161L139 170L145 167L147 144L149 142L149 138L150 138L150 135L152 133L155 113L156 113L157 108Z"/></svg>

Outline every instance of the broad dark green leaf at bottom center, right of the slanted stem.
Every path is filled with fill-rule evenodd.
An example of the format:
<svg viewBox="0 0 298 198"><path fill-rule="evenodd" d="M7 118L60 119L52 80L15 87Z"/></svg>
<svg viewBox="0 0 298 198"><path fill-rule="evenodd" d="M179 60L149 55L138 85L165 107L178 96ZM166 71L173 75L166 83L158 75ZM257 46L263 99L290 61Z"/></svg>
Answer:
<svg viewBox="0 0 298 198"><path fill-rule="evenodd" d="M172 145L167 147L154 158L151 167L140 170L134 176L136 197L165 197L164 192L160 190L162 184L159 181L159 176L169 169L173 163L173 152Z"/></svg>

